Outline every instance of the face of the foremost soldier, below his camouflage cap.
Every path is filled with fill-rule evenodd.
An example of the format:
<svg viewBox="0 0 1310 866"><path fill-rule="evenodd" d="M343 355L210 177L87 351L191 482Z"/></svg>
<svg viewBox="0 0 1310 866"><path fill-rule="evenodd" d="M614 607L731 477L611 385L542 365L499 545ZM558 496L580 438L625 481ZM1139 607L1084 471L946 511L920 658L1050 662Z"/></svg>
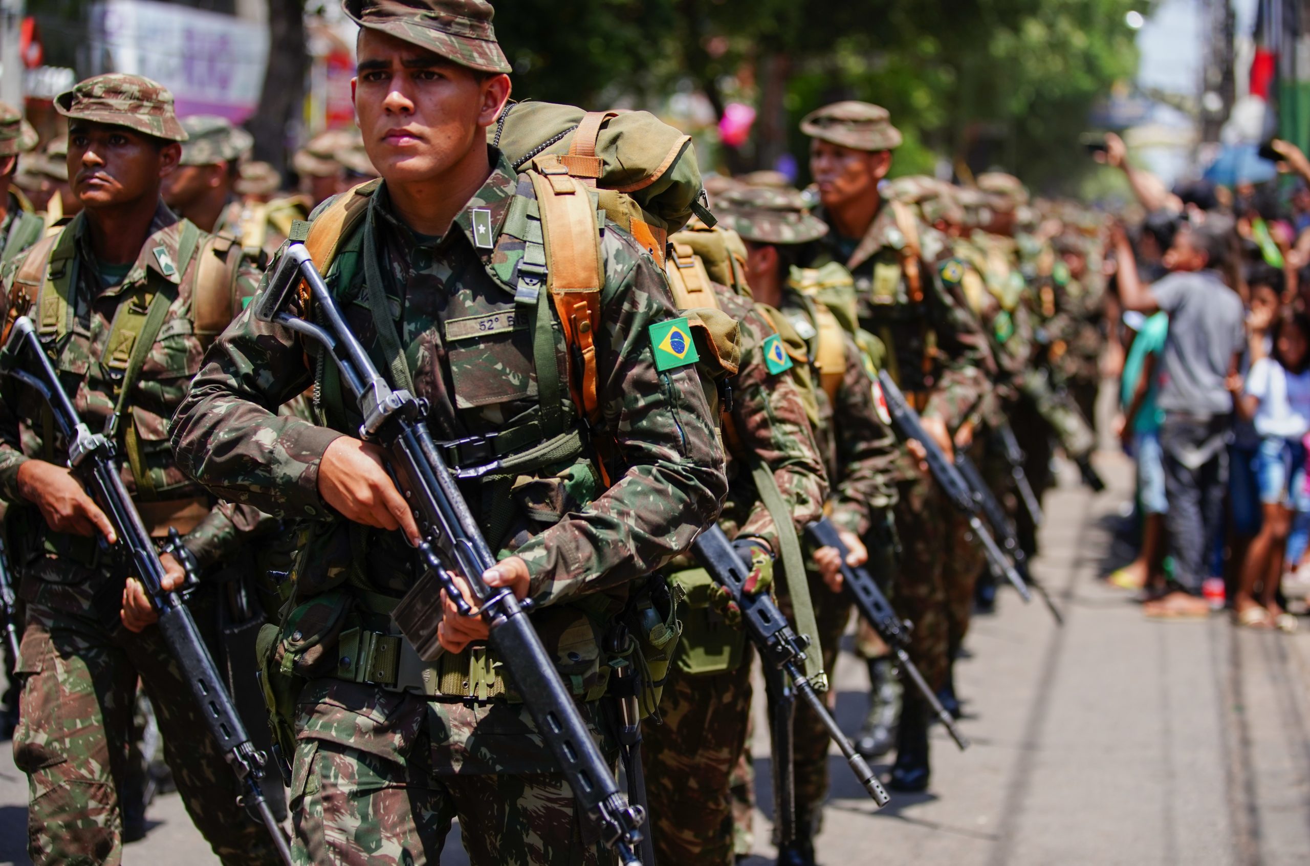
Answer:
<svg viewBox="0 0 1310 866"><path fill-rule="evenodd" d="M351 88L364 149L392 183L439 179L486 147L510 98L508 76L481 76L376 30L360 33Z"/></svg>

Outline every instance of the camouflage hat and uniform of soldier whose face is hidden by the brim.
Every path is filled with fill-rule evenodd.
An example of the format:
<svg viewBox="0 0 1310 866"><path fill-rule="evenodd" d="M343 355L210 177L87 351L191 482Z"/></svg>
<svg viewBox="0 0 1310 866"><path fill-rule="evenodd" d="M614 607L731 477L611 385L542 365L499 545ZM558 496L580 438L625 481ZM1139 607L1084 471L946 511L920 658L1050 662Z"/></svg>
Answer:
<svg viewBox="0 0 1310 866"><path fill-rule="evenodd" d="M756 244L795 245L811 242L827 233L828 227L811 216L800 194L791 189L741 189L722 195L717 212L723 223L734 228L744 240ZM799 276L793 271L793 276ZM838 287L841 276L846 284ZM815 439L823 455L823 465L832 482L827 512L840 528L866 540L874 562L882 559L886 567L887 518L896 502L895 464L896 440L887 422L879 417L870 366L876 341L857 343L845 329L840 329L841 364L829 369L827 347L821 341L832 339L820 316L836 320L854 318L854 295L849 274L825 274L823 288L804 280L793 279L783 293L781 313L804 343L804 356L816 386L817 423ZM871 351L870 351L871 350ZM834 364L836 366L836 364ZM834 676L841 635L850 621L853 604L845 593L833 593L823 583L816 569L807 574L810 597L817 622L817 639L823 652L823 668ZM795 717L795 798L798 836L811 840L820 827L823 803L828 797L828 731L823 721L808 707L798 706ZM806 842L802 842L806 844Z"/></svg>

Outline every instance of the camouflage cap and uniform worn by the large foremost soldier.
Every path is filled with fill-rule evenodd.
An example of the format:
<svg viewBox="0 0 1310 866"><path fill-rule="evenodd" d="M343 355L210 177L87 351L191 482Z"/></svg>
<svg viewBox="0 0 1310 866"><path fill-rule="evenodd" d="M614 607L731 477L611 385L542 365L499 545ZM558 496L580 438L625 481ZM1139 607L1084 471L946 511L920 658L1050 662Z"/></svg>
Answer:
<svg viewBox="0 0 1310 866"><path fill-rule="evenodd" d="M428 8L421 16L392 0L346 4L363 26L476 69L510 69L494 41L490 5L464 0ZM525 257L541 253L541 235L532 231L540 231L533 187L494 148L490 159L490 176L440 238L415 236L394 215L385 182L364 190L364 223L341 238L343 254L326 280L364 346L376 345L379 334L360 301L375 291L385 295L436 439L491 448L527 436L520 443L536 445L576 434L582 419L570 389L561 388L570 355L563 341L546 343L552 363L534 362L540 341L533 330L548 325L558 337L559 325L549 303L528 301L537 290ZM491 231L478 235L474 220L486 228L483 219ZM487 236L493 249L478 240ZM360 250L351 259L359 267L345 278L348 249ZM655 364L651 326L679 318L664 276L612 224L604 227L600 254L593 444L515 477L487 473L461 485L491 549L527 563L537 634L613 759L616 743L600 702L610 671L603 638L638 588L634 582L685 550L714 520L727 483L694 368ZM516 296L523 305L515 305ZM549 318L538 321L538 313ZM510 317L532 325L516 329ZM272 414L314 380L307 350L320 351L248 311L210 351L173 426L179 460L216 493L313 521L280 641L292 650L316 641L313 654L292 656L307 680L296 701L291 787L297 861L438 862L457 815L478 863L610 862L531 714L510 700L512 684L493 649L443 654L434 663L441 675L413 687L398 673L375 677L355 654L346 655L347 633L375 646L396 645L385 611L410 588L419 566L400 532L333 519L318 494L324 451L359 424L347 407L354 401L326 379L334 367L326 364L318 389L329 427ZM380 359L379 366L390 363ZM557 393L558 402L545 402L545 392ZM521 444L508 447L521 452ZM486 462L464 448L452 453L455 465ZM599 477L604 469L614 480L608 489ZM335 618L328 617L333 611ZM310 622L320 624L317 630ZM326 630L331 622L335 629ZM316 658L322 664L314 666Z"/></svg>

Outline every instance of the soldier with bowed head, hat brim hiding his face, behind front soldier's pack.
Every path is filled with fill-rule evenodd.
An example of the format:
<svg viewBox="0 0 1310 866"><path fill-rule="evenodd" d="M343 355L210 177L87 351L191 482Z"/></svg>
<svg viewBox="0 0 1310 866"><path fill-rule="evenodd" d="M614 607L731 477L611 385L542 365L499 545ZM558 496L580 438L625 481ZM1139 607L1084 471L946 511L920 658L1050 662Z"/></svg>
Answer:
<svg viewBox="0 0 1310 866"><path fill-rule="evenodd" d="M891 508L896 502L896 440L879 417L870 364L878 348L867 334L865 345L838 324L854 328L850 276L831 265L821 278L793 269L799 245L816 241L828 227L807 212L800 193L790 187L732 190L719 197L717 214L745 241L745 275L756 300L781 311L803 339L804 363L816 388L815 435L832 482L827 514L837 525L850 555L863 565L872 549L886 566ZM842 288L837 288L842 286ZM825 303L827 301L827 303ZM834 312L836 311L836 312ZM814 552L808 570L823 668L829 677L837 666L841 634L850 621L852 601L841 593L840 558L832 548ZM778 862L815 862L814 838L828 797L828 734L808 706L798 707L795 722L796 838L778 850Z"/></svg>

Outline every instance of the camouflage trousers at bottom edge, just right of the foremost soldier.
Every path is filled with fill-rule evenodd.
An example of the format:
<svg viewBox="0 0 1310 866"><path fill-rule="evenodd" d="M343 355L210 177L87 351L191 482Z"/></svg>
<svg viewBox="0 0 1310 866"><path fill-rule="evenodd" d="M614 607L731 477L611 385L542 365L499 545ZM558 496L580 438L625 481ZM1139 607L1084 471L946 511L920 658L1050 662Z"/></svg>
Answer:
<svg viewBox="0 0 1310 866"><path fill-rule="evenodd" d="M741 799L734 797L734 782L747 797L751 790L741 759L748 748L753 659L747 645L741 663L724 673L692 675L672 666L660 697L663 725L642 726L646 795L660 863L734 862L734 837L741 832L735 828ZM749 837L749 825L744 833Z"/></svg>

